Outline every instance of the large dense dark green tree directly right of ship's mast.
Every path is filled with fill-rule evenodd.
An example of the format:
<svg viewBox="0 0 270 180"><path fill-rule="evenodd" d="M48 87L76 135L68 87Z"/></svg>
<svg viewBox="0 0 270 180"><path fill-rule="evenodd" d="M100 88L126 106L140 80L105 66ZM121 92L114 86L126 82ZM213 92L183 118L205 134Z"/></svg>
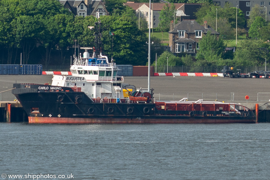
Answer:
<svg viewBox="0 0 270 180"><path fill-rule="evenodd" d="M146 64L147 38L146 34L138 29L134 10L126 8L121 16L119 14L103 16L101 22L108 29L103 33L103 43L106 45L104 50L107 55L112 56L117 64ZM109 31L114 32L115 35L110 36Z"/></svg>

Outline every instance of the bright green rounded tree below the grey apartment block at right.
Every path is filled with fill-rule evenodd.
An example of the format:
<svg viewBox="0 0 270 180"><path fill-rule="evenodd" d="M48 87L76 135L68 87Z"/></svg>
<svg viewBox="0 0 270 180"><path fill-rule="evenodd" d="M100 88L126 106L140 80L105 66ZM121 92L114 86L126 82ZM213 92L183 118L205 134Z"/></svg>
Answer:
<svg viewBox="0 0 270 180"><path fill-rule="evenodd" d="M261 39L260 29L265 26L265 20L261 16L257 16L250 25L248 35L250 38Z"/></svg>

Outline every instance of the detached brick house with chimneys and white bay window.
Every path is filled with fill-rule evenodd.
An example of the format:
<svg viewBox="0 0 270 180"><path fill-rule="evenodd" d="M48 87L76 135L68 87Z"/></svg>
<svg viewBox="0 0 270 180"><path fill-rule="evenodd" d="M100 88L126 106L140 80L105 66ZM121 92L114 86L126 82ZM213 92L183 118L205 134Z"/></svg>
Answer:
<svg viewBox="0 0 270 180"><path fill-rule="evenodd" d="M219 36L218 32L207 25L207 21L204 22L203 26L199 25L195 20L181 21L169 32L171 52L186 52L196 55L197 49L199 49L199 40L208 32Z"/></svg>

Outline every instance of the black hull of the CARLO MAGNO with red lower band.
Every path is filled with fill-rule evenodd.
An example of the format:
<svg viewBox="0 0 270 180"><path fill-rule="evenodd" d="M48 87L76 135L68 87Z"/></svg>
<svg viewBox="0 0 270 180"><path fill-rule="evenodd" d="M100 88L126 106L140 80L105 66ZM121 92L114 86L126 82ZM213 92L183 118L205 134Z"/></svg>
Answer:
<svg viewBox="0 0 270 180"><path fill-rule="evenodd" d="M72 90L15 90L29 123L255 123L252 111L166 111L158 110L155 103L95 103L84 92Z"/></svg>

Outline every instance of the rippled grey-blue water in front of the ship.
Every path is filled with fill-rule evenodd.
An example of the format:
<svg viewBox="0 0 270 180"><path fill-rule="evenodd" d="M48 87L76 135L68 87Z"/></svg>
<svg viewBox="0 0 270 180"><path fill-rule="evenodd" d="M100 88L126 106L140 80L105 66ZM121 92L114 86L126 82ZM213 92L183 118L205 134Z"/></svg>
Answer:
<svg viewBox="0 0 270 180"><path fill-rule="evenodd" d="M7 174L0 179L265 180L269 151L268 123L0 123L0 176Z"/></svg>

